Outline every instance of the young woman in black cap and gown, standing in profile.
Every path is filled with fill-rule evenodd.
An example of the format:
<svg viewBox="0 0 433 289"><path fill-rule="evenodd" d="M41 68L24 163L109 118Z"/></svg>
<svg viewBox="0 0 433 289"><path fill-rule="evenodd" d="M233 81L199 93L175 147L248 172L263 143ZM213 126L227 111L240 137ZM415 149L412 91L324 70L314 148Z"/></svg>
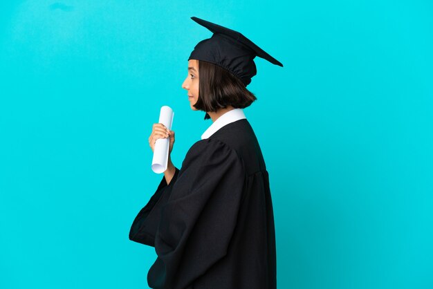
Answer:
<svg viewBox="0 0 433 289"><path fill-rule="evenodd" d="M191 109L212 125L179 170L171 158L158 189L133 221L129 239L155 247L151 288L276 288L269 176L243 114L256 99L246 86L255 56L282 66L239 32L192 17L214 32L194 48L182 84ZM174 131L154 124L149 145Z"/></svg>

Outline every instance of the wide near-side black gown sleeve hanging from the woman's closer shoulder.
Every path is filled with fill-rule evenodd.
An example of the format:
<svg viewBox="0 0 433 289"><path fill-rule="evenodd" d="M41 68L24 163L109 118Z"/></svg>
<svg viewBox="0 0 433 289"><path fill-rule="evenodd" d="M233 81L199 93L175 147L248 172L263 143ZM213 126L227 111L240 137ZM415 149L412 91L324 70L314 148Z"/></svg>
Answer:
<svg viewBox="0 0 433 289"><path fill-rule="evenodd" d="M151 288L183 289L227 254L245 182L236 151L212 138L188 151L155 236Z"/></svg>

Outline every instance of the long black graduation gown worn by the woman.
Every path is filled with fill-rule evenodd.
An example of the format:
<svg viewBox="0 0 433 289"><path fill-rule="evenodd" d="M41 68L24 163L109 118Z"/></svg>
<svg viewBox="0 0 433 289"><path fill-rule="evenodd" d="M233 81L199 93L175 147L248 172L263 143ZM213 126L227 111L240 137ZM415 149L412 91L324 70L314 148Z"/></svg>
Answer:
<svg viewBox="0 0 433 289"><path fill-rule="evenodd" d="M154 246L151 288L275 289L269 176L246 119L196 142L134 219L129 239Z"/></svg>

